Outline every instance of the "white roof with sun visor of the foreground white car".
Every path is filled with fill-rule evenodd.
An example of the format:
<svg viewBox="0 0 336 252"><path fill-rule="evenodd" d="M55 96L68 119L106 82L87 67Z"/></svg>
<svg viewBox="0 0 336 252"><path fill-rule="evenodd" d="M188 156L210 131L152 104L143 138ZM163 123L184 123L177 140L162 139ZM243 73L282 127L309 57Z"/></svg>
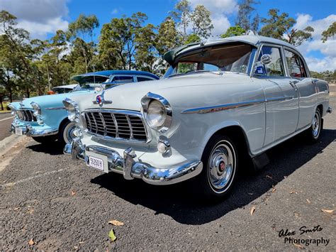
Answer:
<svg viewBox="0 0 336 252"><path fill-rule="evenodd" d="M259 35L240 35L240 36L233 36L233 37L228 37L228 38L220 38L218 40L208 40L208 41L202 41L199 43L192 43L189 45L182 45L179 48L174 48L172 50L169 50L167 53L163 55L163 58L170 65L172 65L177 55L181 55L182 53L185 53L186 51L208 47L211 45L220 45L220 44L234 43L234 42L247 43L247 44L253 45L254 47L257 47L260 43L284 45L297 52L297 49L295 46L291 45L290 43L285 42L284 40L279 40L276 38L269 38L269 37L264 37L264 36L259 36Z"/></svg>

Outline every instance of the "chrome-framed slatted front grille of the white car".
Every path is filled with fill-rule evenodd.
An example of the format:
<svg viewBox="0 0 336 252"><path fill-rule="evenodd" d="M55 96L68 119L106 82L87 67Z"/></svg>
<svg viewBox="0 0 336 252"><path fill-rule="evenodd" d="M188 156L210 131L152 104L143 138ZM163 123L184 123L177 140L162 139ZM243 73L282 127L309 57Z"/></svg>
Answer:
<svg viewBox="0 0 336 252"><path fill-rule="evenodd" d="M89 133L106 138L147 141L147 131L138 112L84 111L82 114Z"/></svg>

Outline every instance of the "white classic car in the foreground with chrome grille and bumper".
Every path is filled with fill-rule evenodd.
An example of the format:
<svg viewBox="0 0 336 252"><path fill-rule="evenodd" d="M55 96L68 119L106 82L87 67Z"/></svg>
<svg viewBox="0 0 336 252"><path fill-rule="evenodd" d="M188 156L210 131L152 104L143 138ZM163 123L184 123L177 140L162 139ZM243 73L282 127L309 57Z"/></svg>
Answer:
<svg viewBox="0 0 336 252"><path fill-rule="evenodd" d="M310 77L293 45L237 36L169 51L163 80L66 99L76 138L65 153L103 172L223 197L238 166L267 165L265 151L306 131L318 140L329 87Z"/></svg>

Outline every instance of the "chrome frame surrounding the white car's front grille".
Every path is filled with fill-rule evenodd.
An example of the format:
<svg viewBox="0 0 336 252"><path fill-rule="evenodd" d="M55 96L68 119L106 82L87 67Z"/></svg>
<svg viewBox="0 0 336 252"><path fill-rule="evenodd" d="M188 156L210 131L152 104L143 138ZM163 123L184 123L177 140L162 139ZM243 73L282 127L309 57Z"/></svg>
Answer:
<svg viewBox="0 0 336 252"><path fill-rule="evenodd" d="M86 109L85 111L82 111L82 116L84 116L85 113L91 113L91 112L105 112L105 113L111 113L112 118L113 118L113 122L116 125L116 138L113 138L111 136L101 136L97 133L92 133L90 132L87 127L84 127L84 132L87 133L90 136L95 136L96 138L100 138L103 140L108 140L108 141L117 141L117 142L123 142L123 143L150 143L150 141L152 141L152 135L150 134L150 130L147 128L147 124L145 123L142 114L139 111L131 111L131 110L118 110L118 109ZM120 138L118 136L118 124L116 122L116 118L114 116L114 114L125 114L125 116L128 118L128 116L137 116L141 121L142 124L145 128L145 133L147 136L147 140L146 141L140 141L137 139L125 139L125 138ZM83 124L84 125L84 124Z"/></svg>

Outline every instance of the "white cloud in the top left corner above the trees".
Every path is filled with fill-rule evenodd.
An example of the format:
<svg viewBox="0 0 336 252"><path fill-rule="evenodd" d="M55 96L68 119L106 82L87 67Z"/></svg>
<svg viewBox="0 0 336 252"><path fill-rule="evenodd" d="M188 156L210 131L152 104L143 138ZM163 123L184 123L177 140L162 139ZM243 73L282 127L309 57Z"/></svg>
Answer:
<svg viewBox="0 0 336 252"><path fill-rule="evenodd" d="M29 31L31 38L45 38L69 24L67 0L0 0L0 6L18 18L18 26Z"/></svg>

